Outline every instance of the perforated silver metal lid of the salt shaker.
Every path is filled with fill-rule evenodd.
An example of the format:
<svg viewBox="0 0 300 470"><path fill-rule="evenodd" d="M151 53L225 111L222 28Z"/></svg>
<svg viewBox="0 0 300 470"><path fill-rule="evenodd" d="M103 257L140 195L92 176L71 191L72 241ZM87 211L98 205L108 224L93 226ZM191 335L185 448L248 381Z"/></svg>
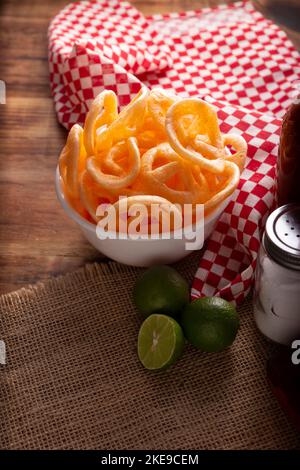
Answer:
<svg viewBox="0 0 300 470"><path fill-rule="evenodd" d="M270 214L264 246L279 264L300 270L300 204L286 204Z"/></svg>

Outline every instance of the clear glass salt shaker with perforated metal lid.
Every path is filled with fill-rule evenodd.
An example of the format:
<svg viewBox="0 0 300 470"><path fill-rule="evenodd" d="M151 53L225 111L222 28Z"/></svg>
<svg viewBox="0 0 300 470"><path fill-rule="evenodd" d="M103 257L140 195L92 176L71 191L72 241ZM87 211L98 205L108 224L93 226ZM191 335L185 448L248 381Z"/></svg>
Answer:
<svg viewBox="0 0 300 470"><path fill-rule="evenodd" d="M291 345L300 339L300 204L269 216L255 273L254 318L264 336Z"/></svg>

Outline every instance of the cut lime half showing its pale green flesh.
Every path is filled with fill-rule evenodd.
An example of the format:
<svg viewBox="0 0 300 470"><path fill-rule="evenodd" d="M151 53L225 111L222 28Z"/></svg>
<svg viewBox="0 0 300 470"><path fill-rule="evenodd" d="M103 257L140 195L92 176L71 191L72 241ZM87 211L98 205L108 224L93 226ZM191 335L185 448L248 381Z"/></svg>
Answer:
<svg viewBox="0 0 300 470"><path fill-rule="evenodd" d="M138 356L146 369L165 369L181 356L184 336L180 325L167 315L153 314L138 336Z"/></svg>

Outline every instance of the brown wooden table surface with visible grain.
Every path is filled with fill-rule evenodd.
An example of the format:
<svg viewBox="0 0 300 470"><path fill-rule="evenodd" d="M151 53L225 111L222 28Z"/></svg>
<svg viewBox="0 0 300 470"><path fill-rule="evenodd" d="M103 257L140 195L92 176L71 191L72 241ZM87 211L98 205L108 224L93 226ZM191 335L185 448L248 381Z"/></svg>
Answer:
<svg viewBox="0 0 300 470"><path fill-rule="evenodd" d="M1 0L0 293L100 259L65 216L54 170L66 131L49 91L47 27L70 0ZM195 9L224 0L135 0L143 13ZM227 3L231 3L227 1Z"/></svg>

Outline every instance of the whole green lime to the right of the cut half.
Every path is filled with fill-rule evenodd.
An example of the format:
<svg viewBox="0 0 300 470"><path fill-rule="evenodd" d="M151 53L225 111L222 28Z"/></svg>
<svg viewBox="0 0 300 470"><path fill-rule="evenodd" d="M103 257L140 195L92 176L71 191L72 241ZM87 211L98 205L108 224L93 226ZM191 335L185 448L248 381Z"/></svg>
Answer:
<svg viewBox="0 0 300 470"><path fill-rule="evenodd" d="M239 329L235 307L220 297L196 299L181 316L186 339L196 348L218 352L228 348Z"/></svg>

